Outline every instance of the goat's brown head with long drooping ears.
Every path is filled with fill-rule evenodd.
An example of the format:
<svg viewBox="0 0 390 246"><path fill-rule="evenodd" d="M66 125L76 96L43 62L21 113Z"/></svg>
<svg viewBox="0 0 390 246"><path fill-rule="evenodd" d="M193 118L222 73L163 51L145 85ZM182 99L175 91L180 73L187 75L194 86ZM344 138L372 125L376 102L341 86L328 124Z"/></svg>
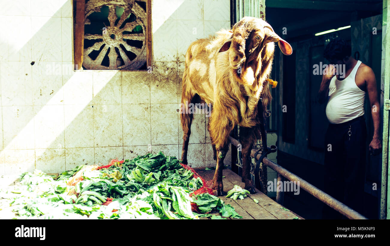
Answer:
<svg viewBox="0 0 390 246"><path fill-rule="evenodd" d="M293 49L290 44L281 39L271 25L266 21L254 17L244 17L232 28L232 36L228 39L219 52L229 50L230 66L238 69L243 62L261 60L261 51L266 47L273 55L273 42L278 42L283 54L290 55Z"/></svg>

